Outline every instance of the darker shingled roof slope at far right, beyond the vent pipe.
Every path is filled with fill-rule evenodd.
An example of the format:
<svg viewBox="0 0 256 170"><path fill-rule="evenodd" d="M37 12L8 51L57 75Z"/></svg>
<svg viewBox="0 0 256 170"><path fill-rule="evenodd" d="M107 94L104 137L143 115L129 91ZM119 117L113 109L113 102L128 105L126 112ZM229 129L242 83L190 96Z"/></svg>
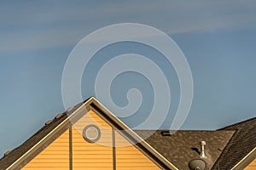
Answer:
<svg viewBox="0 0 256 170"><path fill-rule="evenodd" d="M212 169L231 169L256 147L256 117L218 131L236 130Z"/></svg>

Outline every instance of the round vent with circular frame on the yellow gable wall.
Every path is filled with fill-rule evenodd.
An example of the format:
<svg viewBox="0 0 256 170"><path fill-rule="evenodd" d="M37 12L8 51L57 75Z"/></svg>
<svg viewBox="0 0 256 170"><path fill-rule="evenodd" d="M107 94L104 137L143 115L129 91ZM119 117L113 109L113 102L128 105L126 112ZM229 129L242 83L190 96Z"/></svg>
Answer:
<svg viewBox="0 0 256 170"><path fill-rule="evenodd" d="M101 138L101 130L96 125L90 124L84 127L83 136L87 142L95 143Z"/></svg>

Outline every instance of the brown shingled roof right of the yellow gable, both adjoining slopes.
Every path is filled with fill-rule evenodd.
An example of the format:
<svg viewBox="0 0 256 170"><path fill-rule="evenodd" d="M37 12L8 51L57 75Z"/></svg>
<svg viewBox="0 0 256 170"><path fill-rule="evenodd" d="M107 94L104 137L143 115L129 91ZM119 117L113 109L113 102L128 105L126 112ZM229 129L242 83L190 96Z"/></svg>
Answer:
<svg viewBox="0 0 256 170"><path fill-rule="evenodd" d="M198 158L199 141L205 140L207 169L243 169L256 158L256 117L216 131L177 131L163 136L138 130L140 136L153 133L146 141L178 169L187 169L189 161Z"/></svg>

